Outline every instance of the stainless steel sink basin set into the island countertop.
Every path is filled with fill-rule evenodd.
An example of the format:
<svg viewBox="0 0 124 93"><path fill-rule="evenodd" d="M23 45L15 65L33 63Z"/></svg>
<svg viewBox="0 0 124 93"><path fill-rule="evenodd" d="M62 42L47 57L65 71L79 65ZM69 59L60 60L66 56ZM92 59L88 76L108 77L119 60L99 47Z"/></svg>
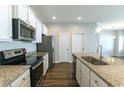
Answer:
<svg viewBox="0 0 124 93"><path fill-rule="evenodd" d="M91 57L91 56L82 56L81 58L84 59L85 61L87 61L88 63L93 64L93 65L109 65L108 63L103 62L102 60L98 60L98 59Z"/></svg>

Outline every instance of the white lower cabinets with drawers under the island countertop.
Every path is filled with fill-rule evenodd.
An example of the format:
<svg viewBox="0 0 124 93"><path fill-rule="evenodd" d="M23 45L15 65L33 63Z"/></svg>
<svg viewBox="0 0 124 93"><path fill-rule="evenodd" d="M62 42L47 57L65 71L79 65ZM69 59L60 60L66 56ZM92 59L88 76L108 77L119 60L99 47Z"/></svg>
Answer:
<svg viewBox="0 0 124 93"><path fill-rule="evenodd" d="M80 87L108 87L108 84L78 59L76 60L76 79Z"/></svg>

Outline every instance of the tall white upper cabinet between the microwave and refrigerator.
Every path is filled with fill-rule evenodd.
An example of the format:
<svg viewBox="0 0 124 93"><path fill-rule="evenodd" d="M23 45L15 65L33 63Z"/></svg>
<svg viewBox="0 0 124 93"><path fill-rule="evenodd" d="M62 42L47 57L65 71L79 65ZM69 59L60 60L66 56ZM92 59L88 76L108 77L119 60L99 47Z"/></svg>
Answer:
<svg viewBox="0 0 124 93"><path fill-rule="evenodd" d="M42 43L42 23L36 18L36 40L34 43Z"/></svg>

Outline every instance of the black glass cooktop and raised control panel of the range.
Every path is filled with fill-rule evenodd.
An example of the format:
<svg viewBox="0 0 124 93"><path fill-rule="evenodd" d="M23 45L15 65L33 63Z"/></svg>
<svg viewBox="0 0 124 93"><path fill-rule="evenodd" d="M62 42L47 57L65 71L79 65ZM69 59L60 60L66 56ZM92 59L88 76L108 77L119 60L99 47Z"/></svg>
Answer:
<svg viewBox="0 0 124 93"><path fill-rule="evenodd" d="M37 54L26 56L25 49L13 49L0 52L1 65L34 65L42 60L43 57Z"/></svg>

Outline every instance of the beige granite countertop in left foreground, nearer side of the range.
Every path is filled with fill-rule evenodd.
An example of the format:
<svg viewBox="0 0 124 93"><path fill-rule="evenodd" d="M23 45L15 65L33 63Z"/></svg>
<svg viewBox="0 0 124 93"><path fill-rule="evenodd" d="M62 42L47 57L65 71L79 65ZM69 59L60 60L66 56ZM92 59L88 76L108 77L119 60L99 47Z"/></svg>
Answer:
<svg viewBox="0 0 124 93"><path fill-rule="evenodd" d="M26 72L30 66L4 65L0 66L0 87L9 86L13 81Z"/></svg>

